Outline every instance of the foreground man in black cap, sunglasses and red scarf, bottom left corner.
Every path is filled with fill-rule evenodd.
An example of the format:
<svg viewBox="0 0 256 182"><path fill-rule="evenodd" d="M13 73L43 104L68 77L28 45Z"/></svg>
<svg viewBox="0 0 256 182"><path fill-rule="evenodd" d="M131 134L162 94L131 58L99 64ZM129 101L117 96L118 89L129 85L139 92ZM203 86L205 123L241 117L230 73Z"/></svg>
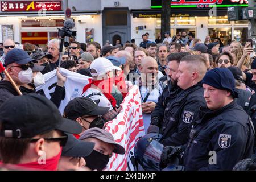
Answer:
<svg viewBox="0 0 256 182"><path fill-rule="evenodd" d="M56 170L67 142L64 132L81 132L79 124L61 117L57 107L38 94L10 98L0 108L0 155L5 164Z"/></svg>

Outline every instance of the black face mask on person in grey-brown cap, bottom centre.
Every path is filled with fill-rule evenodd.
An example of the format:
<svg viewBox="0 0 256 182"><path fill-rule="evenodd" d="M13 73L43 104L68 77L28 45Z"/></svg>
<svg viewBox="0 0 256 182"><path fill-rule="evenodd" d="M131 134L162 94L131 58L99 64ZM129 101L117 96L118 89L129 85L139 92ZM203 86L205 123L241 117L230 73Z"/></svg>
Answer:
<svg viewBox="0 0 256 182"><path fill-rule="evenodd" d="M109 162L109 156L93 150L90 155L84 157L86 166L92 170L102 171Z"/></svg>

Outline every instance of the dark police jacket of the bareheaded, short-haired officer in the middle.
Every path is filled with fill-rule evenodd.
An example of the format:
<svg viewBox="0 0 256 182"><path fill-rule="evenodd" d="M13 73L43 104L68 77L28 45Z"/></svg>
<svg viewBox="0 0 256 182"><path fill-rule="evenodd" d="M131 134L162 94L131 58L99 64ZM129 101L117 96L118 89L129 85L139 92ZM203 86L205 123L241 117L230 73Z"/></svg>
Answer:
<svg viewBox="0 0 256 182"><path fill-rule="evenodd" d="M176 91L177 92L177 91ZM163 134L160 143L164 146L187 144L193 122L199 119L199 107L206 106L201 82L180 91L176 98L168 102L160 127Z"/></svg>

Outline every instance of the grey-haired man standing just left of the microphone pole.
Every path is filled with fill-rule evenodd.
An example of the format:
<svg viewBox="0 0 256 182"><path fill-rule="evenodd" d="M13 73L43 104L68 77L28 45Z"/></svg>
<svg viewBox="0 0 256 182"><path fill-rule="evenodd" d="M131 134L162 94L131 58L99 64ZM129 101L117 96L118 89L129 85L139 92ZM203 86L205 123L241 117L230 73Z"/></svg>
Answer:
<svg viewBox="0 0 256 182"><path fill-rule="evenodd" d="M52 59L50 59L49 70L48 72L53 71L53 69L59 66L59 53L60 53L60 40L52 39L48 43L48 52L52 55Z"/></svg>

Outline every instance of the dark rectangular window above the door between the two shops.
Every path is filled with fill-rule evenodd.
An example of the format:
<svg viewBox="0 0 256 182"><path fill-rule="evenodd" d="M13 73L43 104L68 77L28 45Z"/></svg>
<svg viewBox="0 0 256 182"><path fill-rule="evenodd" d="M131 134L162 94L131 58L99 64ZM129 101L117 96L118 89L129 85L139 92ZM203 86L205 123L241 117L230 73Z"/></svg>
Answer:
<svg viewBox="0 0 256 182"><path fill-rule="evenodd" d="M106 11L106 26L127 26L127 11Z"/></svg>

